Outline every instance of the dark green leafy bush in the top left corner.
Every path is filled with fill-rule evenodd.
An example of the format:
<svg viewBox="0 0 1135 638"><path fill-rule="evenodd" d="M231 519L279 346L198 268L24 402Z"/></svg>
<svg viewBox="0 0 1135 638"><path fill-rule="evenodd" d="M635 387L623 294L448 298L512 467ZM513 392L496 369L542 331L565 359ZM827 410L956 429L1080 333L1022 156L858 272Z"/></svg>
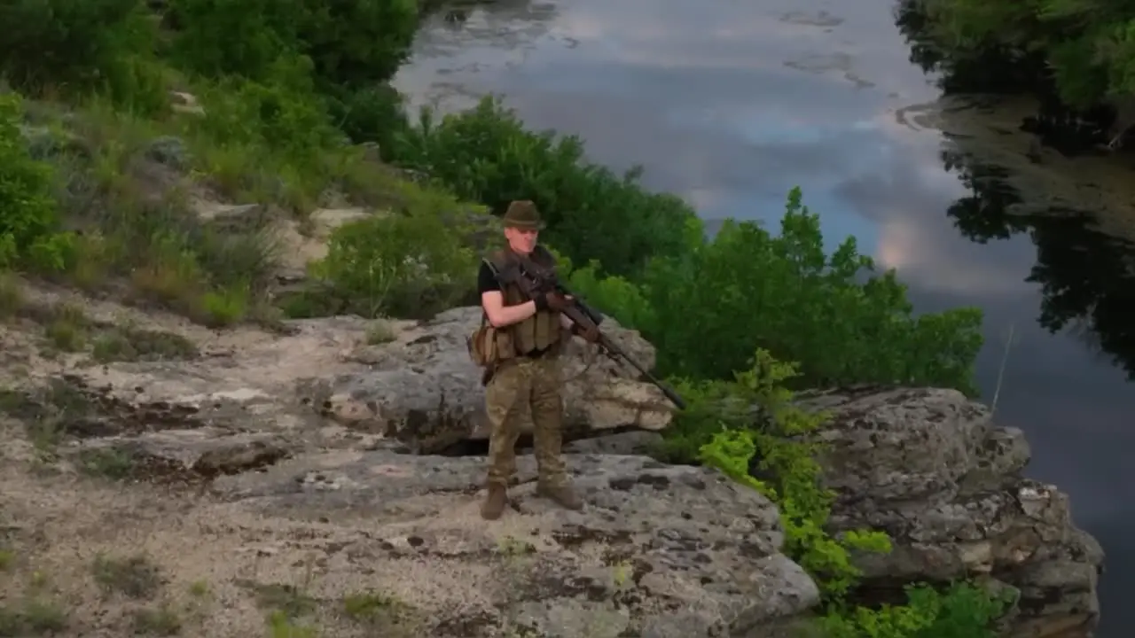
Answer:
<svg viewBox="0 0 1135 638"><path fill-rule="evenodd" d="M167 103L143 0L7 0L0 24L18 25L0 39L0 75L22 92L81 99L103 91L146 112Z"/></svg>

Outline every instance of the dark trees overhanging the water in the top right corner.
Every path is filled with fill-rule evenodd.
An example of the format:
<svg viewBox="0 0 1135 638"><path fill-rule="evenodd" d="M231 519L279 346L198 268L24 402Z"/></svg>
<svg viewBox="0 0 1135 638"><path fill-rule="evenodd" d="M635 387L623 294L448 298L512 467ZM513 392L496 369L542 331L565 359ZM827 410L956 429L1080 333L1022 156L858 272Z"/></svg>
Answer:
<svg viewBox="0 0 1135 638"><path fill-rule="evenodd" d="M910 60L952 93L1027 94L1063 150L1130 150L1135 8L1115 0L900 0Z"/></svg>

